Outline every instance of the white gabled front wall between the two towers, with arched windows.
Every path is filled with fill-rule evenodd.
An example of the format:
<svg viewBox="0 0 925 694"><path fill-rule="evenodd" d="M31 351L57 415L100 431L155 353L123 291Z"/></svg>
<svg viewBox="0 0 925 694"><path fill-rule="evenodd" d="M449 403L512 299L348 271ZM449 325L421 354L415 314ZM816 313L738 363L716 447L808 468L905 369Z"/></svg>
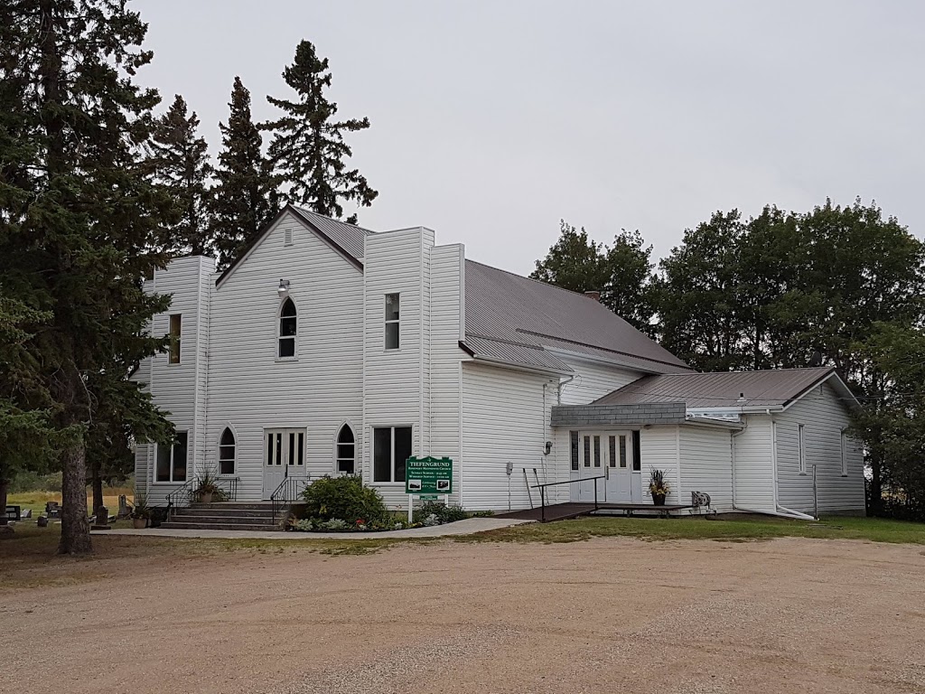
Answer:
<svg viewBox="0 0 925 694"><path fill-rule="evenodd" d="M287 230L290 246L284 246ZM298 313L294 361L277 359L279 279L290 281ZM334 441L344 422L351 424L361 452L361 271L285 215L212 291L206 457L215 463L218 438L232 427L239 500L264 496L265 428L304 428L306 473L314 477L334 472Z"/></svg>

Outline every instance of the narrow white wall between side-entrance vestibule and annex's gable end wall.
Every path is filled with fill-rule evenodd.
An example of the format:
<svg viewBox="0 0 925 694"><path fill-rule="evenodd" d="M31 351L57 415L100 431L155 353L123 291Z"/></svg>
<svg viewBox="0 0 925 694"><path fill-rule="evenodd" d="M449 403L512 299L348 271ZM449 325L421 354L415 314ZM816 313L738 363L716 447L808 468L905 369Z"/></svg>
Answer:
<svg viewBox="0 0 925 694"><path fill-rule="evenodd" d="M746 428L733 437L734 504L743 511L773 514L771 416L746 415Z"/></svg>

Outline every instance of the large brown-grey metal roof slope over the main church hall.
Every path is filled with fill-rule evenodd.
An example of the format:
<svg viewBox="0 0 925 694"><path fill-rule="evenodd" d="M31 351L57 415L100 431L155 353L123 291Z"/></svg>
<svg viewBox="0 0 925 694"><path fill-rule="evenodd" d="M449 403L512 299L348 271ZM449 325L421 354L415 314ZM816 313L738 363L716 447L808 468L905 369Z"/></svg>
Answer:
<svg viewBox="0 0 925 694"><path fill-rule="evenodd" d="M476 357L474 341L487 339L506 349L552 348L654 373L690 370L594 299L473 260L465 263L465 332Z"/></svg>

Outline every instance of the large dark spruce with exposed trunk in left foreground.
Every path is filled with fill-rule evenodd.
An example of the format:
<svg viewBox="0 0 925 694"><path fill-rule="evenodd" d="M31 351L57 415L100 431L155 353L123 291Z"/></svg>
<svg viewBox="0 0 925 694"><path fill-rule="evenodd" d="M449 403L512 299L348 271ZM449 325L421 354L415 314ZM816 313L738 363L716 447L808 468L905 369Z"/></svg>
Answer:
<svg viewBox="0 0 925 694"><path fill-rule="evenodd" d="M22 342L34 378L20 382L12 407L49 412L63 472L58 550L67 553L92 549L85 451L93 379L120 355L165 345L142 332L169 303L145 294L140 279L164 264L149 249L170 208L139 160L158 101L134 83L151 60L140 48L145 31L117 0L0 6L0 288L47 316ZM138 393L127 374L112 377ZM156 416L148 399L125 402L138 408L126 416Z"/></svg>

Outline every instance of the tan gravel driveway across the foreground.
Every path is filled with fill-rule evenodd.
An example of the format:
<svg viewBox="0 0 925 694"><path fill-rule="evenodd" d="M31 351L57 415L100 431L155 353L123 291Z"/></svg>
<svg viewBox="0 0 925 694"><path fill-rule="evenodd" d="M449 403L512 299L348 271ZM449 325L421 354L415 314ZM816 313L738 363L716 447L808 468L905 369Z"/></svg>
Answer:
<svg viewBox="0 0 925 694"><path fill-rule="evenodd" d="M925 691L921 546L448 541L124 574L0 596L0 690Z"/></svg>

